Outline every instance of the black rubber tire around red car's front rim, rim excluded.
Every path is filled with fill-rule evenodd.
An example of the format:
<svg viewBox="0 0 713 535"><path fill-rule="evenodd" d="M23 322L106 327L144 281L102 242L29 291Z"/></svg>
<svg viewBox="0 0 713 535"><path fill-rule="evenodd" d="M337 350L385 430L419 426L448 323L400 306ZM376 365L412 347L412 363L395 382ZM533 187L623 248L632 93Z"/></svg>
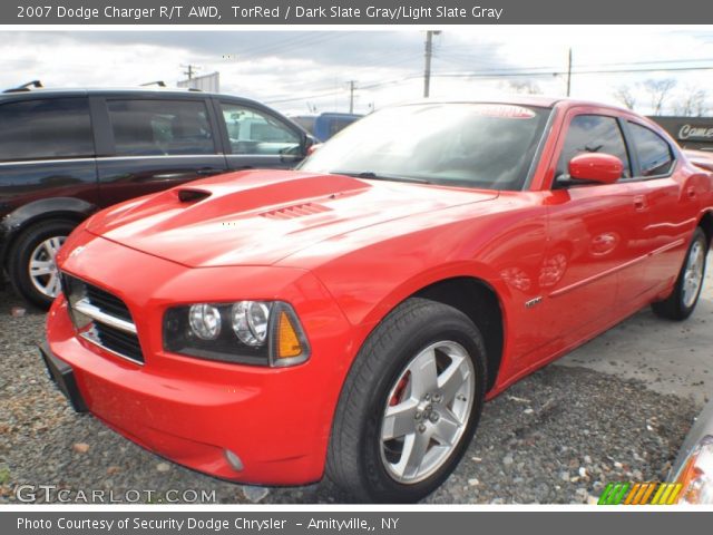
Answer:
<svg viewBox="0 0 713 535"><path fill-rule="evenodd" d="M381 425L387 400L407 363L439 341L460 344L475 370L465 431L449 457L423 480L394 479L382 461ZM438 488L472 440L486 388L486 349L478 328L462 312L426 299L409 299L370 334L344 383L332 425L326 475L361 502L411 503Z"/></svg>

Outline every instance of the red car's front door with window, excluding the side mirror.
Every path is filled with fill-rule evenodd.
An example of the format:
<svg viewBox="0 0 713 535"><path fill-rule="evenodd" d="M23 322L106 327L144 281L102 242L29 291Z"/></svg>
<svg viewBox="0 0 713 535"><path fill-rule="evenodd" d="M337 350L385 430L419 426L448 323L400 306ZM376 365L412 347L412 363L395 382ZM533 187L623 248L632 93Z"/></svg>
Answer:
<svg viewBox="0 0 713 535"><path fill-rule="evenodd" d="M548 245L540 286L550 339L570 346L589 332L618 320L616 304L622 272L642 254L638 228L645 215L637 212L625 182L582 183L570 179L569 160L583 153L605 153L632 165L618 118L606 109L573 108L555 152L556 171L548 201ZM641 284L627 281L626 292Z"/></svg>

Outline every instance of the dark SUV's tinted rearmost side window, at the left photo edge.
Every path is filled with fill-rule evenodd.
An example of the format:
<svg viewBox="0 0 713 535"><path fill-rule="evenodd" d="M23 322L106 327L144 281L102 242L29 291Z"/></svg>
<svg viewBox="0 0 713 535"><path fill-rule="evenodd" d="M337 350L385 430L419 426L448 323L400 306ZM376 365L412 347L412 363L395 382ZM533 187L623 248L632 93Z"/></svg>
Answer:
<svg viewBox="0 0 713 535"><path fill-rule="evenodd" d="M94 153L86 98L0 105L0 160L76 158Z"/></svg>

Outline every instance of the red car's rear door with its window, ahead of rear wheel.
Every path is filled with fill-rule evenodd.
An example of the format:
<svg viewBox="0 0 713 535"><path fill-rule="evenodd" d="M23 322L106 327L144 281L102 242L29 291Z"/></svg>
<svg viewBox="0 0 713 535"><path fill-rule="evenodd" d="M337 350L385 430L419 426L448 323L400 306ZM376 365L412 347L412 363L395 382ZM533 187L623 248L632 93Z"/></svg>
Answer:
<svg viewBox="0 0 713 535"><path fill-rule="evenodd" d="M639 121L627 120L626 130L637 169L631 187L648 215L641 236L648 255L637 273L644 293L638 303L623 303L636 307L670 288L677 276L699 204L695 191L682 186L676 176L675 152L668 142Z"/></svg>

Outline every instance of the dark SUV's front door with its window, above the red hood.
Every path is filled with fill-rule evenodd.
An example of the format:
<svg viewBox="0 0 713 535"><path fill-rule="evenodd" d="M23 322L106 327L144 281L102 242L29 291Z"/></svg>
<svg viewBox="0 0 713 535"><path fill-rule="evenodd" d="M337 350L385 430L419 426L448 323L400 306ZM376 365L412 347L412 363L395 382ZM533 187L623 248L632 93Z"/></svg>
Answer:
<svg viewBox="0 0 713 535"><path fill-rule="evenodd" d="M286 169L304 158L306 133L286 118L240 99L216 99L215 107L231 171Z"/></svg>

